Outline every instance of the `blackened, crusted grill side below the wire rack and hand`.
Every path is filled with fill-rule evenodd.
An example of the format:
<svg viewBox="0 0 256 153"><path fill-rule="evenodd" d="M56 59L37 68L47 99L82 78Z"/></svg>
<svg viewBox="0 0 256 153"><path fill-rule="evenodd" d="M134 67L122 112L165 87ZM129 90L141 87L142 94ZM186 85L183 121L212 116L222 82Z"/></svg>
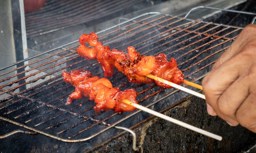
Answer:
<svg viewBox="0 0 256 153"><path fill-rule="evenodd" d="M241 152L256 143L256 134L244 127L229 126L225 121L207 114L205 102L190 96L162 112L206 131L223 137L222 141L214 140L187 130L174 123L152 117L133 128L137 135L137 146L143 152ZM132 137L125 133L108 143L99 145L91 152L136 152L132 150ZM121 150L120 150L121 149ZM140 151L138 151L140 152Z"/></svg>

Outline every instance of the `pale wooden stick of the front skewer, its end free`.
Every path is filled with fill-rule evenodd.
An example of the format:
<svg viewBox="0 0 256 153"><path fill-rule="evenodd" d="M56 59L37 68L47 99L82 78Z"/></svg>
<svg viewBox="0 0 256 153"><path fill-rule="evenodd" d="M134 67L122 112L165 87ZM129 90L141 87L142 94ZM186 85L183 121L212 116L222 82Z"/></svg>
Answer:
<svg viewBox="0 0 256 153"><path fill-rule="evenodd" d="M150 113L150 114L152 114L152 115L155 115L155 116L157 116L157 117L160 117L160 118L165 119L165 120L167 120L167 121L170 121L170 122L172 122L172 123L178 124L178 125L180 125L180 126L182 126L182 127L185 127L186 129L195 131L195 132L197 132L197 133L200 133L200 134L202 134L202 135L208 136L208 137L210 137L210 138L214 138L214 139L219 140L219 141L222 140L222 137L221 137L221 136L218 136L218 135L216 135L216 134L213 134L213 133L207 132L207 131L205 131L205 130L199 129L199 128L196 127L196 126L193 126L193 125L187 124L187 123L185 123L185 122L179 121L179 120L177 120L177 119L174 119L174 118L172 118L172 117L163 115L163 114L161 114L161 113L158 113L158 112L156 112L156 111L153 111L153 110L148 109L148 108L146 108L146 107L143 107L143 106L141 106L141 105L135 104L135 103L133 103L132 101L123 99L122 102L125 103L125 104L127 104L127 105L136 107L137 109L140 109L140 110L142 110L142 111L144 111L144 112Z"/></svg>

